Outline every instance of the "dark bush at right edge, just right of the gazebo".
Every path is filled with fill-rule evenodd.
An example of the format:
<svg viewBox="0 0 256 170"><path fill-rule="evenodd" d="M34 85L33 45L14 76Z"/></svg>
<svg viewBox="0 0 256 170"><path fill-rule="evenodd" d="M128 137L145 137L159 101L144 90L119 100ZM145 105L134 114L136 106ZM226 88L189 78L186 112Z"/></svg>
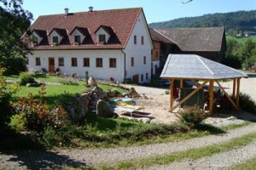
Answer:
<svg viewBox="0 0 256 170"><path fill-rule="evenodd" d="M239 94L239 105L243 111L247 111L256 115L256 104L248 94Z"/></svg>

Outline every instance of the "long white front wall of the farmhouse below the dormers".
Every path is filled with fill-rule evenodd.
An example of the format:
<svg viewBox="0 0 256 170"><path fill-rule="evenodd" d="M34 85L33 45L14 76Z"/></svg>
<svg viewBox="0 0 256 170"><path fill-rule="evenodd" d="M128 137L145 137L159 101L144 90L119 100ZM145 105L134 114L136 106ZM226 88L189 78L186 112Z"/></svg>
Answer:
<svg viewBox="0 0 256 170"><path fill-rule="evenodd" d="M64 66L59 66L59 58L64 58ZM36 58L41 59L41 65L36 66ZM79 77L85 76L85 71L89 76L97 79L109 79L123 82L125 77L124 54L121 50L38 50L28 55L29 71L37 71L42 68L49 70L49 58L55 58L55 70L59 68L61 73L72 75L76 73ZM78 65L71 66L71 58L77 58ZM90 58L90 67L84 67L84 58ZM102 67L96 67L96 58L102 58ZM109 59L116 58L116 68L109 68Z"/></svg>

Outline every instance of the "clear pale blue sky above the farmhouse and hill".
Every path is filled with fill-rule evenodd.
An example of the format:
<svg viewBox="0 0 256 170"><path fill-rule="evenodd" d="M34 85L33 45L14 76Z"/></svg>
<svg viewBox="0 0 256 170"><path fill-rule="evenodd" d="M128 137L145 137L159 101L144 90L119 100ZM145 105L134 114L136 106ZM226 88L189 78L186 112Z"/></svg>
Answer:
<svg viewBox="0 0 256 170"><path fill-rule="evenodd" d="M62 14L64 8L72 13L112 8L142 7L148 24L152 22L173 20L182 17L200 16L202 14L227 13L238 10L255 10L256 0L23 0L23 8L34 15ZM185 2L187 0L183 0Z"/></svg>

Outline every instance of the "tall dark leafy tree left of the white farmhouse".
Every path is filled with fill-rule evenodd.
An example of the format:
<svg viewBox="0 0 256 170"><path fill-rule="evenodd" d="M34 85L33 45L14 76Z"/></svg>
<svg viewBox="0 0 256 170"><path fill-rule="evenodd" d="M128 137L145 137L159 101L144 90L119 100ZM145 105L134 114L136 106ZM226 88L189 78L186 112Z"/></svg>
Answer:
<svg viewBox="0 0 256 170"><path fill-rule="evenodd" d="M30 26L32 14L22 8L22 3L0 0L0 67L6 68L6 74L25 71L26 54L30 53L21 37Z"/></svg>

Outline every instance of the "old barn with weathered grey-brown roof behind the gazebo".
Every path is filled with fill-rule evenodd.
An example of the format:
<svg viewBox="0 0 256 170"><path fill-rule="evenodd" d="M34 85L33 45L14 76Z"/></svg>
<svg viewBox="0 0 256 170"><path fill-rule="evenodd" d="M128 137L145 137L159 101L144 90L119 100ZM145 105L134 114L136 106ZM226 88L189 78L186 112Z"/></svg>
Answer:
<svg viewBox="0 0 256 170"><path fill-rule="evenodd" d="M169 54L197 54L221 62L226 50L224 27L150 29L160 43L161 66ZM154 43L155 38L152 38Z"/></svg>

